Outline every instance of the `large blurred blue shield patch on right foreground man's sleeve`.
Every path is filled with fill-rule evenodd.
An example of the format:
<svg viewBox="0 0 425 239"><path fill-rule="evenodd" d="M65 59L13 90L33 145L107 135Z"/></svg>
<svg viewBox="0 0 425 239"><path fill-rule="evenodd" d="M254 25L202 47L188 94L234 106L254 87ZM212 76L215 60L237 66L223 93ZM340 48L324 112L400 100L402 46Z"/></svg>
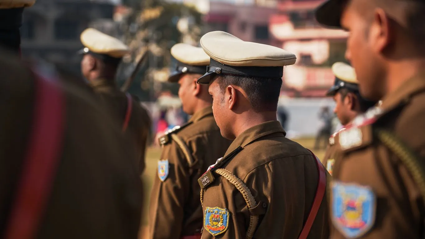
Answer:
<svg viewBox="0 0 425 239"><path fill-rule="evenodd" d="M370 187L331 182L331 218L346 238L367 233L375 222L376 196Z"/></svg>

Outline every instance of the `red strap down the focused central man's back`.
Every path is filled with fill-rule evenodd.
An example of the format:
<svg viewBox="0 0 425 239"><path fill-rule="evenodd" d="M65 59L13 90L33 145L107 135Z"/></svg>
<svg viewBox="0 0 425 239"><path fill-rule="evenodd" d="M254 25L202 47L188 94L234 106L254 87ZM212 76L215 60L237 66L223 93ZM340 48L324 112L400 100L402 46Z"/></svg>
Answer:
<svg viewBox="0 0 425 239"><path fill-rule="evenodd" d="M304 228L301 231L301 234L298 237L298 239L306 239L307 236L309 235L314 219L316 218L317 212L319 211L320 204L322 203L323 196L325 195L325 188L326 188L325 168L323 168L323 165L320 162L320 159L317 158L312 151L310 152L312 153L313 157L316 159L317 170L319 171L319 183L317 185L316 195L314 196L312 209L309 213L309 216L307 217L306 224L304 225Z"/></svg>

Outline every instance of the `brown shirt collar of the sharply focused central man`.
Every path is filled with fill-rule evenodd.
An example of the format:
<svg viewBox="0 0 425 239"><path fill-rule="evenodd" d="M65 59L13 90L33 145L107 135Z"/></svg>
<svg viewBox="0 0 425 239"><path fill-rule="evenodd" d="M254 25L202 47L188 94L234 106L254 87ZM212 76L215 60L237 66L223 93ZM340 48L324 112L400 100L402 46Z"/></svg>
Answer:
<svg viewBox="0 0 425 239"><path fill-rule="evenodd" d="M282 125L280 125L279 121L267 121L259 125L255 125L242 132L242 134L240 134L238 137L236 137L236 139L227 149L226 154L224 154L224 156L227 156L227 154L230 154L239 146L243 148L251 142L254 142L256 139L278 132L283 133L283 136L286 135L286 132L283 130Z"/></svg>

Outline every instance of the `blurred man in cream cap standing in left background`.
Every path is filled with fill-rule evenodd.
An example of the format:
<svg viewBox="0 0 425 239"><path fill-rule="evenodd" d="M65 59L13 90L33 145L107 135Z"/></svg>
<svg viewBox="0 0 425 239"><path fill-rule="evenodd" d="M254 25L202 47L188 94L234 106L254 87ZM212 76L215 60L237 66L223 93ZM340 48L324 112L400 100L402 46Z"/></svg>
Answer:
<svg viewBox="0 0 425 239"><path fill-rule="evenodd" d="M80 36L85 46L81 70L89 85L109 106L111 115L122 127L122 131L133 140L138 152L139 171L142 174L145 163L150 117L138 100L119 90L115 83L116 71L122 57L129 49L120 40L94 28L85 29Z"/></svg>

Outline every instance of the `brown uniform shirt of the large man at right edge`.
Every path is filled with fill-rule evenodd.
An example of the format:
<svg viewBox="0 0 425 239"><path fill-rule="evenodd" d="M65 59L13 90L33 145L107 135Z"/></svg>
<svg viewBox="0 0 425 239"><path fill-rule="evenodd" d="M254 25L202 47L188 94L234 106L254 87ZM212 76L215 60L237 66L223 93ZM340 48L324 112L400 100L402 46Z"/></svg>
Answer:
<svg viewBox="0 0 425 239"><path fill-rule="evenodd" d="M425 205L414 175L425 163L424 102L425 77L414 77L337 135L332 239L423 237ZM419 162L413 170L412 162Z"/></svg>

